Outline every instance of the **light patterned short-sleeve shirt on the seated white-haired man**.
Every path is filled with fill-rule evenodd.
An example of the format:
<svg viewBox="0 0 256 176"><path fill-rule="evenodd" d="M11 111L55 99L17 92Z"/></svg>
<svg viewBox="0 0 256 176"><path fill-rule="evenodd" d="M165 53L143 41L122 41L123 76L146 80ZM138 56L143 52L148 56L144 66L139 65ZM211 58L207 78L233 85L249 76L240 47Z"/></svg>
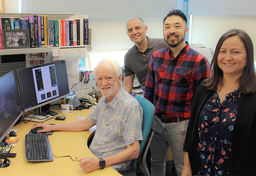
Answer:
<svg viewBox="0 0 256 176"><path fill-rule="evenodd" d="M109 104L103 96L88 119L97 124L90 150L98 158L112 156L124 151L127 145L143 140L142 107L123 87ZM131 163L111 167L117 171L129 170L132 169Z"/></svg>

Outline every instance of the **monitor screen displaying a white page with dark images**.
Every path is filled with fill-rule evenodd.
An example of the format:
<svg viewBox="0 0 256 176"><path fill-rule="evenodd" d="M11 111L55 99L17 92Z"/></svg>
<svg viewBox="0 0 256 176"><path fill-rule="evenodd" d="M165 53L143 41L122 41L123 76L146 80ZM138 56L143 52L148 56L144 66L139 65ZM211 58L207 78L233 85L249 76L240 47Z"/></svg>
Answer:
<svg viewBox="0 0 256 176"><path fill-rule="evenodd" d="M17 69L24 112L70 95L66 62Z"/></svg>

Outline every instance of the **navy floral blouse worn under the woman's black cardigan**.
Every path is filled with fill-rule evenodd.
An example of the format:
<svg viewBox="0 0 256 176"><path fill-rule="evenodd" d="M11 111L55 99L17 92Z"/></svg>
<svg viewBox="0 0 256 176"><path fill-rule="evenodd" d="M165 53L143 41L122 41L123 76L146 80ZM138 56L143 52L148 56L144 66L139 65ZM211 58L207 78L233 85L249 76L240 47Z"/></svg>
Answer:
<svg viewBox="0 0 256 176"><path fill-rule="evenodd" d="M231 141L240 93L226 95L221 103L215 92L199 116L198 161L200 176L226 176L229 173Z"/></svg>

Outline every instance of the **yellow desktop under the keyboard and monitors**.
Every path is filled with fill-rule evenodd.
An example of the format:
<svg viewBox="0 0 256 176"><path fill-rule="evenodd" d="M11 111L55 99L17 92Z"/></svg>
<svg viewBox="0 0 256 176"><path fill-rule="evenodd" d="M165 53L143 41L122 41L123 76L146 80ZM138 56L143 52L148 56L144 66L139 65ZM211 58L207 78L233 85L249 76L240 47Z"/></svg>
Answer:
<svg viewBox="0 0 256 176"><path fill-rule="evenodd" d="M60 113L60 107L51 107L51 110ZM65 121L48 120L46 123L63 124L73 122L77 116L87 117L92 109L75 110L66 114ZM60 113L61 114L61 113ZM91 173L85 173L79 166L78 161L72 161L69 157L54 158L52 162L27 162L25 154L25 135L29 133L31 127L36 122L19 122L13 127L18 129L16 134L20 138L11 153L17 153L15 158L9 158L11 163L7 168L0 168L1 176L120 176L113 168L98 169ZM87 140L92 133L89 130L81 132L54 131L52 136L48 136L52 153L56 156L72 155L79 157L97 158L89 151Z"/></svg>

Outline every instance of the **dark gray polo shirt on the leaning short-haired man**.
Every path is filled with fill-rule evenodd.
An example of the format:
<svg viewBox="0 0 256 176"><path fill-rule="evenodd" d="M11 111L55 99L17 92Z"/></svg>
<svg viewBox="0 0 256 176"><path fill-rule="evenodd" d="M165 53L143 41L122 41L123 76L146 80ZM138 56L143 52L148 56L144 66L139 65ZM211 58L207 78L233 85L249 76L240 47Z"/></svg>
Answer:
<svg viewBox="0 0 256 176"><path fill-rule="evenodd" d="M124 56L124 77L128 77L135 73L143 91L147 79L148 65L152 54L156 50L168 46L163 38L147 37L147 41L147 49L144 53L140 52L137 46L134 45Z"/></svg>

